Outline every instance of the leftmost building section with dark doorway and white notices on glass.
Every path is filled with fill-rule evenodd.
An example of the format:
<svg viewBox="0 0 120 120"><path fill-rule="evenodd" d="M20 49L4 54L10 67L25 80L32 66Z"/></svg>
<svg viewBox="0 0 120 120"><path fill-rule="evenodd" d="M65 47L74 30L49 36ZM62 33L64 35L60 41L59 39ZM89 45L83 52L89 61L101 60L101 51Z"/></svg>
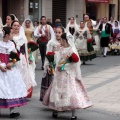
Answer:
<svg viewBox="0 0 120 120"><path fill-rule="evenodd" d="M39 20L42 0L0 0L0 16L5 24L6 16L15 14L20 23L26 18Z"/></svg>

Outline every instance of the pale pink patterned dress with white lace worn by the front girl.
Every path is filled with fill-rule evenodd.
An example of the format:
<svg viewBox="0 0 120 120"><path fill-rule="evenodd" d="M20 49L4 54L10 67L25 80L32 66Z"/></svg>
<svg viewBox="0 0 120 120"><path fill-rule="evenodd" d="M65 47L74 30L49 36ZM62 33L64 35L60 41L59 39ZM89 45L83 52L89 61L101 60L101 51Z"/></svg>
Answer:
<svg viewBox="0 0 120 120"><path fill-rule="evenodd" d="M65 60L66 56L72 53L71 47L61 48L56 52L56 66L58 61ZM44 105L57 111L87 108L92 105L81 78L78 80L76 77L76 68L76 63L67 63L64 71L55 70L54 79L43 100Z"/></svg>

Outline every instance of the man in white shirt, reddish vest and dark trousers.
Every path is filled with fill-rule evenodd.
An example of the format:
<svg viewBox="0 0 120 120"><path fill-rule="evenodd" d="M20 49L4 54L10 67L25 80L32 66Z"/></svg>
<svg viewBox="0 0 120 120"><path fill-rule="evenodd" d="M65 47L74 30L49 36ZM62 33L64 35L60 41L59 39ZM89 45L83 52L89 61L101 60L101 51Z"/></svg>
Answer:
<svg viewBox="0 0 120 120"><path fill-rule="evenodd" d="M41 25L39 25L35 31L34 36L38 37L38 44L39 44L39 50L41 54L41 60L42 60L42 70L44 70L44 61L45 61L45 55L46 55L46 45L48 41L51 38L55 37L53 28L47 24L47 20L45 16L41 17Z"/></svg>

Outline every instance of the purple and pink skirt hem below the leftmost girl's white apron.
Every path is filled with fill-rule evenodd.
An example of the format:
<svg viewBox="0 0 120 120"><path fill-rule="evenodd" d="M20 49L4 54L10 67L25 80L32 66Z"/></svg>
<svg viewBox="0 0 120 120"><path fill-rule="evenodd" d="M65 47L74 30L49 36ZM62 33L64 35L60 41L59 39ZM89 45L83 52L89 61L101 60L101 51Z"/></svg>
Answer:
<svg viewBox="0 0 120 120"><path fill-rule="evenodd" d="M19 107L27 104L26 98L0 99L0 108Z"/></svg>

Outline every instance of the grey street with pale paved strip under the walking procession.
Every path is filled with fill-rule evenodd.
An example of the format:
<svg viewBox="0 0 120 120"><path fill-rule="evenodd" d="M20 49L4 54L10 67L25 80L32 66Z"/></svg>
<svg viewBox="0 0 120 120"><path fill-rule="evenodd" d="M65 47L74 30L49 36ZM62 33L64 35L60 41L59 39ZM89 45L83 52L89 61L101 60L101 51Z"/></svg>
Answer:
<svg viewBox="0 0 120 120"><path fill-rule="evenodd" d="M52 111L39 102L43 71L41 62L36 67L33 97L28 105L16 108L21 113L17 120L53 120ZM98 56L81 65L83 83L87 88L93 107L77 110L78 120L120 120L120 56ZM1 120L9 120L9 110L1 110ZM61 112L57 120L70 120L71 112Z"/></svg>

